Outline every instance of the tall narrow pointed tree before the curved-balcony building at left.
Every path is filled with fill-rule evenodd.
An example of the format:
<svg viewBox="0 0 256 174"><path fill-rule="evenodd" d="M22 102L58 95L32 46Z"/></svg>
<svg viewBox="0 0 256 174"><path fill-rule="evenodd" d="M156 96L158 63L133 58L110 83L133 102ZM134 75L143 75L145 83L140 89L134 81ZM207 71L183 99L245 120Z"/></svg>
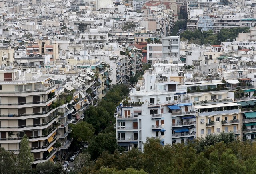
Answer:
<svg viewBox="0 0 256 174"><path fill-rule="evenodd" d="M31 153L31 147L29 146L29 139L25 134L20 142L20 153L18 154L18 165L20 169L28 170L31 168L31 164L34 161L34 156Z"/></svg>

